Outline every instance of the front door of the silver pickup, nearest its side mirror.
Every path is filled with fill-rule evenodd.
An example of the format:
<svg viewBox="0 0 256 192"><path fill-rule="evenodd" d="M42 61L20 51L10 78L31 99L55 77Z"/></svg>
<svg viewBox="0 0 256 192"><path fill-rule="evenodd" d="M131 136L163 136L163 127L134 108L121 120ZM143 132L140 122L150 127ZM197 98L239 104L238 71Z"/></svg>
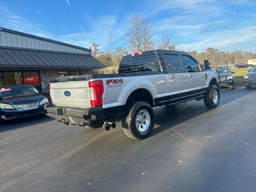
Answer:
<svg viewBox="0 0 256 192"><path fill-rule="evenodd" d="M203 92L206 88L206 72L202 71L200 64L190 55L182 54L182 63L188 73L188 88L190 95Z"/></svg>

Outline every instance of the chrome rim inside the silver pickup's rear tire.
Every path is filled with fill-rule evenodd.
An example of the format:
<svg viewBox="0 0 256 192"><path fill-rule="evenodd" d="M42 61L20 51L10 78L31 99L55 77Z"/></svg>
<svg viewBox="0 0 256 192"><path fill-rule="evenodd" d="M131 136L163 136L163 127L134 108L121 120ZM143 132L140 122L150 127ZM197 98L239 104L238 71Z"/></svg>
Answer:
<svg viewBox="0 0 256 192"><path fill-rule="evenodd" d="M136 116L136 128L140 132L145 132L150 124L150 115L147 110L140 110Z"/></svg>

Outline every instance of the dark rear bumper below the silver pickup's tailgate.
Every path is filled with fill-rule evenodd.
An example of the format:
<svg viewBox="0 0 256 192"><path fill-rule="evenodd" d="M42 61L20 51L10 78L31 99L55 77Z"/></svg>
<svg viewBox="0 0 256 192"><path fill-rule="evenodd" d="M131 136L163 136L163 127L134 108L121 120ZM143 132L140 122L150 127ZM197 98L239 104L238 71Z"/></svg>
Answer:
<svg viewBox="0 0 256 192"><path fill-rule="evenodd" d="M93 108L86 109L74 109L74 108L64 108L56 107L52 103L46 104L44 109L47 110L47 114L62 122L70 123L89 123L93 120L102 120L103 118L103 108L102 106L96 106Z"/></svg>

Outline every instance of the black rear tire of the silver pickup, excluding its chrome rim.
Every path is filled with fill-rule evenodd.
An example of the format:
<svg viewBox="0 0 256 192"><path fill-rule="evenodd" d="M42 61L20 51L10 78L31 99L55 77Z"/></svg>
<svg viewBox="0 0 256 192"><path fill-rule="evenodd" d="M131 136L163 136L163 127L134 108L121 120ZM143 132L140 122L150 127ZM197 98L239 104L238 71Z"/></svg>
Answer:
<svg viewBox="0 0 256 192"><path fill-rule="evenodd" d="M135 124L136 116L138 112L140 112L140 110L142 109L146 110L150 115L149 127L144 132L140 132L136 128L136 124ZM147 138L154 127L154 111L151 105L144 101L136 101L128 104L128 107L126 108L125 113L122 116L122 127L123 127L124 133L129 138L139 139L139 140Z"/></svg>

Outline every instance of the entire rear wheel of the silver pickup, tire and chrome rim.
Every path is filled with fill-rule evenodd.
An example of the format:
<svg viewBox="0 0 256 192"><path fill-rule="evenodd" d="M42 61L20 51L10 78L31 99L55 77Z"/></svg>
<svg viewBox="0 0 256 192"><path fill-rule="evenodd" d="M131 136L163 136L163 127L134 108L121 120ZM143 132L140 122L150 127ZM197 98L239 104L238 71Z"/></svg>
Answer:
<svg viewBox="0 0 256 192"><path fill-rule="evenodd" d="M129 104L122 117L122 127L126 136L132 139L147 138L154 126L154 111L151 105L144 101Z"/></svg>

